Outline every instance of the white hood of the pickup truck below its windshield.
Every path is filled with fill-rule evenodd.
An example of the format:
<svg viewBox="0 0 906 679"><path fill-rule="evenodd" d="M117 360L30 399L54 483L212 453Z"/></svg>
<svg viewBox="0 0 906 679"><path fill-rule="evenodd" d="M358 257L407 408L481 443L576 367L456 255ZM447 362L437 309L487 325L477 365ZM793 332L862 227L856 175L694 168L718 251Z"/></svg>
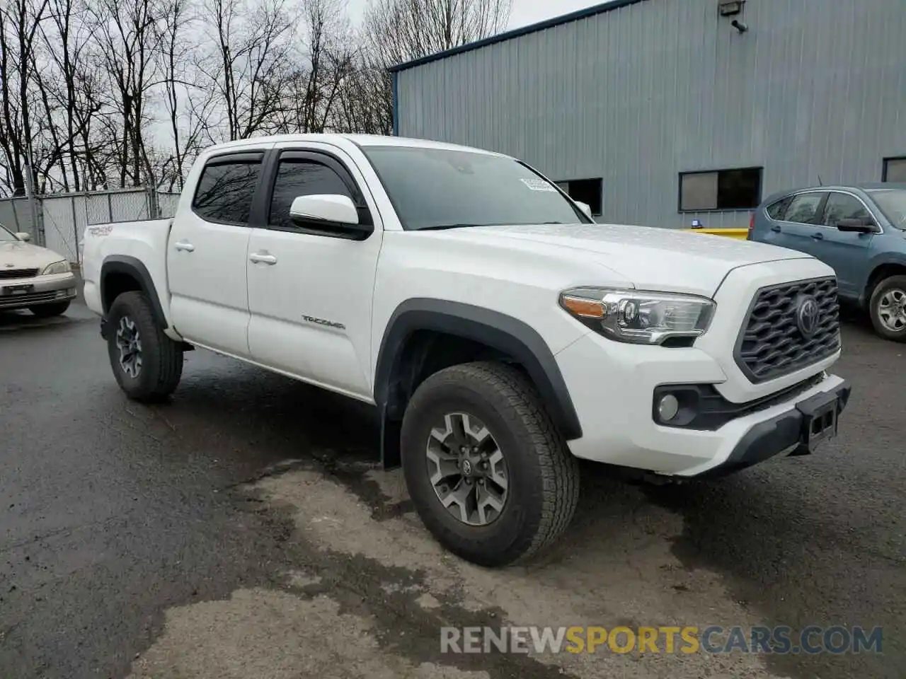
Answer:
<svg viewBox="0 0 906 679"><path fill-rule="evenodd" d="M737 267L811 258L776 245L651 226L473 226L444 233L477 242L516 240L548 252L567 248L576 257L593 258L636 288L707 296L717 292L727 274Z"/></svg>

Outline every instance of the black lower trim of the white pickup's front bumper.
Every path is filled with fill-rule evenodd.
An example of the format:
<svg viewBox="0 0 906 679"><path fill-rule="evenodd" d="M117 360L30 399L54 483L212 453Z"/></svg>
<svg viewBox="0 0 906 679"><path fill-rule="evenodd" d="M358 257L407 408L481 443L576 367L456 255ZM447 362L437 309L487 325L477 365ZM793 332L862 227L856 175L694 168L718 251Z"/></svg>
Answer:
<svg viewBox="0 0 906 679"><path fill-rule="evenodd" d="M850 387L848 382L843 382L833 391L806 398L805 401L797 403L795 407L786 411L786 413L753 426L739 440L739 443L733 448L733 452L729 454L723 464L700 474L699 478L718 477L725 476L728 473L736 473L753 464L764 462L793 446L796 447L790 453L791 456L809 454L807 442L804 440L803 422L806 413L809 412L810 401L813 398L823 400L829 393L835 394L837 397L837 415L839 415L849 402L849 397L852 393L852 387Z"/></svg>

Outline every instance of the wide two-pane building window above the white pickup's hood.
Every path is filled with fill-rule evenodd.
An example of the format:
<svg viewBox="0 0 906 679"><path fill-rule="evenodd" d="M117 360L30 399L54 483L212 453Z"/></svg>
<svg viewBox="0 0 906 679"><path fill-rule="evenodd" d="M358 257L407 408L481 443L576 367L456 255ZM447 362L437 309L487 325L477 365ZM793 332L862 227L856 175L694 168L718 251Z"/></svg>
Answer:
<svg viewBox="0 0 906 679"><path fill-rule="evenodd" d="M751 210L761 202L762 167L679 173L679 212Z"/></svg>

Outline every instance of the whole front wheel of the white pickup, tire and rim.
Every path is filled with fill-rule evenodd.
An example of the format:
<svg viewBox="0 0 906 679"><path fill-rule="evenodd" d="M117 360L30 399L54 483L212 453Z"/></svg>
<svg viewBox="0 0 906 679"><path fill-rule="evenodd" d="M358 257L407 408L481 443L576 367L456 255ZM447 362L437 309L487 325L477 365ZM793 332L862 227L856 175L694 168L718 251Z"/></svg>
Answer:
<svg viewBox="0 0 906 679"><path fill-rule="evenodd" d="M400 444L421 520L463 559L527 559L573 518L578 462L516 368L469 363L432 375L410 400Z"/></svg>

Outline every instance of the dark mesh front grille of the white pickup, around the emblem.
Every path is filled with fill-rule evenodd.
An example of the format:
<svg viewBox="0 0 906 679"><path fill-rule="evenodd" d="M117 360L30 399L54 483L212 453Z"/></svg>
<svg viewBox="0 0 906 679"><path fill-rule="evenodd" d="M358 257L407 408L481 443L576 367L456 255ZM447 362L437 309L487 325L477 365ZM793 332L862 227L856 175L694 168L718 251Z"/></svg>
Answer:
<svg viewBox="0 0 906 679"><path fill-rule="evenodd" d="M814 297L818 320L806 337L797 319L800 301ZM739 333L734 357L753 383L782 378L833 356L840 349L840 307L835 278L782 283L762 288Z"/></svg>

